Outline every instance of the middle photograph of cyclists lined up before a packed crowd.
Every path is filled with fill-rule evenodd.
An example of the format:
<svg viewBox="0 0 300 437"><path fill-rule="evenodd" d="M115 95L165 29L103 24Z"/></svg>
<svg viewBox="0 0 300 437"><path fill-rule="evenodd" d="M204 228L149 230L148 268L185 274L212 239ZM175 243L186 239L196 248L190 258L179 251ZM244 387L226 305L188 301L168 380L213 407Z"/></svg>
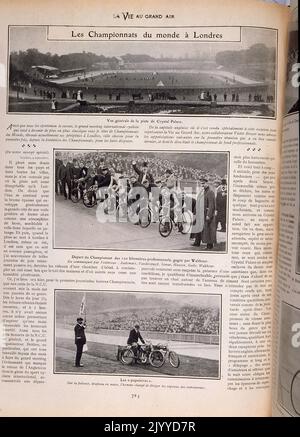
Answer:
<svg viewBox="0 0 300 437"><path fill-rule="evenodd" d="M54 149L53 247L227 252L229 152Z"/></svg>

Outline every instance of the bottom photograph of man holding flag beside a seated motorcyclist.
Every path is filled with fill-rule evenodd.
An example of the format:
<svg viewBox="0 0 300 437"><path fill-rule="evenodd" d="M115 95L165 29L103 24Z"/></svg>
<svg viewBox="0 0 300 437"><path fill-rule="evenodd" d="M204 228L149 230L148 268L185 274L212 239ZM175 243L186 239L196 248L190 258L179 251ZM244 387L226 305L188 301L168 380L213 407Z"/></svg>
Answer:
<svg viewBox="0 0 300 437"><path fill-rule="evenodd" d="M220 379L221 295L55 290L54 373Z"/></svg>

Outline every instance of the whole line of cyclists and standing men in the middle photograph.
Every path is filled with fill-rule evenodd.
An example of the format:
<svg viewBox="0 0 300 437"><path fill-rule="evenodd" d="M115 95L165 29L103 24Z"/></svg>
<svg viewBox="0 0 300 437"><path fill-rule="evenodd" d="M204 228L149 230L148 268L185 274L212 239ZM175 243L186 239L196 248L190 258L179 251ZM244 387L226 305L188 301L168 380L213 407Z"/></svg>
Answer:
<svg viewBox="0 0 300 437"><path fill-rule="evenodd" d="M207 178L200 180L196 189L187 192L181 189L180 179L172 168L165 168L161 177L157 177L157 173L154 177L147 161L139 165L131 161L127 174L120 169L115 172L104 157L97 164L98 168L91 160L61 159L58 154L55 161L56 193L74 202L83 199L87 207L101 205L104 220L109 214L116 222L129 221L142 227L158 222L159 233L163 237L169 236L172 229L183 234L190 232L191 238L196 238L195 246L200 245L199 237L203 236L201 230L204 226L204 231L209 230L210 234L208 248L215 244L216 196L208 189ZM198 201L201 193L202 204ZM162 220L162 217L165 219ZM223 222L222 230L225 231L225 220ZM202 241L206 243L205 239Z"/></svg>

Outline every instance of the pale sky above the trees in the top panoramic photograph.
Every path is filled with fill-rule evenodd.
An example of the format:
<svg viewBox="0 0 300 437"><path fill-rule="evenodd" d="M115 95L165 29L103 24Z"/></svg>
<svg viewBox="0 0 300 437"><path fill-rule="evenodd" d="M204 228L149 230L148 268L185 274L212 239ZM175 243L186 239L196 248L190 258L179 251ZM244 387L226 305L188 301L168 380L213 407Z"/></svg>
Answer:
<svg viewBox="0 0 300 437"><path fill-rule="evenodd" d="M47 41L46 26L19 26L10 29L10 51L38 49L42 53L68 54L89 51L97 55L122 56L126 53L149 54L160 57L194 57L205 55L214 58L223 50L247 49L253 44L263 43L268 47L276 47L276 33L271 29L243 28L241 43L226 42L102 42L102 41ZM176 47L176 49L175 49Z"/></svg>

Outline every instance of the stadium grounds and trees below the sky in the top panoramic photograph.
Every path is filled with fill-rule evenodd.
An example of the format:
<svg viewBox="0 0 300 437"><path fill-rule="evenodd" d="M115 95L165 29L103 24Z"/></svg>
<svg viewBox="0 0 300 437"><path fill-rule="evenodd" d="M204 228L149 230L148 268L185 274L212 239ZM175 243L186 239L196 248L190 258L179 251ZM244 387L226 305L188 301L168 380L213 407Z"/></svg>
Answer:
<svg viewBox="0 0 300 437"><path fill-rule="evenodd" d="M243 30L246 41L247 32ZM271 30L266 36L270 42ZM62 112L274 116L275 39L274 47L259 42L243 50L241 43L240 49L213 49L213 55L209 45L203 47L203 54L186 57L124 54L121 48L113 57L85 51L61 56L36 49L11 52L9 110L49 112L45 91L49 98L55 94ZM81 104L72 105L78 91L83 93Z"/></svg>

